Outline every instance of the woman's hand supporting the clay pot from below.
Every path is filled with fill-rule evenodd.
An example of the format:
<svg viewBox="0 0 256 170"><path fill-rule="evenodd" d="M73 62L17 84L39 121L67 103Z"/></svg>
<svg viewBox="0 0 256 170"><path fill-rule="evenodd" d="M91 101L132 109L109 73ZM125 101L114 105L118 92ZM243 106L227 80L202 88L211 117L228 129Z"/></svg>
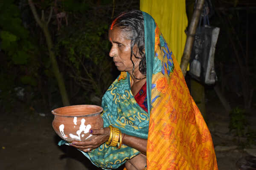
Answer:
<svg viewBox="0 0 256 170"><path fill-rule="evenodd" d="M93 149L96 149L103 143L107 142L110 136L110 128L105 127L103 129L90 129L89 133L96 135L92 140L85 142L72 142L71 146L76 147L79 150L84 152L90 152Z"/></svg>

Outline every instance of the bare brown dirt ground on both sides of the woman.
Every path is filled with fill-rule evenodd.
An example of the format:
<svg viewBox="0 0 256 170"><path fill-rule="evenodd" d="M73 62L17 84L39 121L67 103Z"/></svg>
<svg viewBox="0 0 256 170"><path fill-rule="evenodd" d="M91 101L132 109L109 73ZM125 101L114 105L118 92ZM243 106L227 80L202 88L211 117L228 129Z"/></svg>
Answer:
<svg viewBox="0 0 256 170"><path fill-rule="evenodd" d="M228 114L217 98L207 99L206 109L219 170L238 170L236 163L248 153L229 133ZM248 119L255 124L252 115ZM70 165L76 170L97 170L78 150L58 146L60 138L52 129L52 120L50 111L45 116L19 112L19 109L14 113L2 113L0 170L70 170ZM255 125L252 128L256 129Z"/></svg>

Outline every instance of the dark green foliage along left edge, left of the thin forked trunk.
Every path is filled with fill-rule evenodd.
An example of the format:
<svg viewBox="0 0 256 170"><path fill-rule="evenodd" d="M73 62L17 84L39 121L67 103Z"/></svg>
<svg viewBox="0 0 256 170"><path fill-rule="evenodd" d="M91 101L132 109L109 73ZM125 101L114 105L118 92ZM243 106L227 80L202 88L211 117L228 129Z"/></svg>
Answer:
<svg viewBox="0 0 256 170"><path fill-rule="evenodd" d="M38 47L23 26L20 8L14 0L0 2L0 41L3 63L0 68L0 104L8 112L13 110L15 102L32 101L33 96L28 96L35 94L41 76L37 73L41 65L37 58ZM18 98L17 87L24 89L24 99Z"/></svg>

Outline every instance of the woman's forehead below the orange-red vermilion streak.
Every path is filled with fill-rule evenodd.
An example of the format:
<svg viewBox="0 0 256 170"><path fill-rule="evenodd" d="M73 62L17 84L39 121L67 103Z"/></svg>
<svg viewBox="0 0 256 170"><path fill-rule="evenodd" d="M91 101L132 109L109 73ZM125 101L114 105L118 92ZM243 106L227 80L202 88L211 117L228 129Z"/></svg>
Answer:
<svg viewBox="0 0 256 170"><path fill-rule="evenodd" d="M117 41L117 42L128 40L127 34L125 33L125 31L123 31L119 27L113 27L113 29L109 29L108 39L110 41Z"/></svg>

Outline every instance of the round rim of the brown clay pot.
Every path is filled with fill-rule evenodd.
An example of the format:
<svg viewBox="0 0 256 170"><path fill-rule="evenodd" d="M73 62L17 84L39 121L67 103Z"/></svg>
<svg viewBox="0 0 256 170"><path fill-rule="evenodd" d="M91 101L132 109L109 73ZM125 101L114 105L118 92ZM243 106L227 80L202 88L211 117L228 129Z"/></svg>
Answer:
<svg viewBox="0 0 256 170"><path fill-rule="evenodd" d="M75 106L89 106L89 107L96 107L96 108L99 108L99 111L97 112L93 112L93 113L87 113L87 114L81 114L81 115L63 115L63 114L59 114L59 113L56 113L57 110L59 109L63 109L63 108L72 108L72 107L75 107ZM55 115L55 116L63 116L63 117L89 117L89 116L97 116L99 115L101 112L103 111L103 108L100 107L100 106L97 106L97 105L71 105L71 106L65 106L65 107L61 107L61 108L56 108L54 110L52 110L52 114Z"/></svg>

